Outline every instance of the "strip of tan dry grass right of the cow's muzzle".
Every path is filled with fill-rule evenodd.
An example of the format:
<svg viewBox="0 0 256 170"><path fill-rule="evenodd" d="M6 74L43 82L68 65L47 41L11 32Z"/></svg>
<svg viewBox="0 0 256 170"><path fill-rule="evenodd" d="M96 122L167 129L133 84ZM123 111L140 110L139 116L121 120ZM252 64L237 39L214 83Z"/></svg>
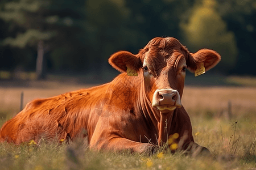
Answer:
<svg viewBox="0 0 256 170"><path fill-rule="evenodd" d="M256 109L256 87L185 87L183 105L187 111L226 111L228 103L232 105L232 113L242 113Z"/></svg>

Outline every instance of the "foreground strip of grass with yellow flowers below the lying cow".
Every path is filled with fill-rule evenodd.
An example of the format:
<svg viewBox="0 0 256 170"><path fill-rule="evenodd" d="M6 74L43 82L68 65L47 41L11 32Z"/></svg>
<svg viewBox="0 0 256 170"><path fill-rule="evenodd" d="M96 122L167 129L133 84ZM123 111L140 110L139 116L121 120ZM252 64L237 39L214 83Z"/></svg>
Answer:
<svg viewBox="0 0 256 170"><path fill-rule="evenodd" d="M217 142L217 141L216 141ZM220 146L221 147L221 146ZM92 151L81 142L41 143L15 146L0 144L1 169L249 169L255 168L255 155L225 152L216 158L195 158L168 151L139 155Z"/></svg>

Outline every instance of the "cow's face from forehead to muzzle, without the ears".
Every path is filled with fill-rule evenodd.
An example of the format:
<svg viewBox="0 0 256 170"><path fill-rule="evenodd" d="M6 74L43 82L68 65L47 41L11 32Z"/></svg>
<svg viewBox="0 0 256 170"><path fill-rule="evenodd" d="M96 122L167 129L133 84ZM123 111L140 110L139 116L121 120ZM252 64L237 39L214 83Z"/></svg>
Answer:
<svg viewBox="0 0 256 170"><path fill-rule="evenodd" d="M182 52L166 50L149 48L142 65L146 94L152 107L162 112L181 107L185 69L187 69Z"/></svg>

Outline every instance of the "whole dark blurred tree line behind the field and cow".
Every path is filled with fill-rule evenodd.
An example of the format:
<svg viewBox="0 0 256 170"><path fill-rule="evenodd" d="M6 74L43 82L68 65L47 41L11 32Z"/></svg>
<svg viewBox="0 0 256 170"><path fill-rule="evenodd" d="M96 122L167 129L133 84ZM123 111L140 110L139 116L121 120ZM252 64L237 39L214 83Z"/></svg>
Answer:
<svg viewBox="0 0 256 170"><path fill-rule="evenodd" d="M191 52L216 50L214 71L256 75L254 0L2 0L0 70L108 71L118 50L136 54L156 36Z"/></svg>

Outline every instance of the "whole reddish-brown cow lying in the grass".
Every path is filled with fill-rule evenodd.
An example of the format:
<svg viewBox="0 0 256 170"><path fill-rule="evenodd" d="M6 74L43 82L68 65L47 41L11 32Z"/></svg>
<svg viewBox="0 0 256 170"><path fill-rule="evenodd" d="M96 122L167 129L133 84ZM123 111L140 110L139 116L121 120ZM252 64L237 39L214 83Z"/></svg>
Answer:
<svg viewBox="0 0 256 170"><path fill-rule="evenodd" d="M2 126L0 141L72 141L85 129L90 148L99 150L152 151L173 134L178 149L198 147L181 105L185 69L195 72L203 63L207 71L220 58L210 49L189 53L175 38L156 37L136 55L120 51L109 58L114 69L138 76L122 73L101 86L33 100Z"/></svg>

